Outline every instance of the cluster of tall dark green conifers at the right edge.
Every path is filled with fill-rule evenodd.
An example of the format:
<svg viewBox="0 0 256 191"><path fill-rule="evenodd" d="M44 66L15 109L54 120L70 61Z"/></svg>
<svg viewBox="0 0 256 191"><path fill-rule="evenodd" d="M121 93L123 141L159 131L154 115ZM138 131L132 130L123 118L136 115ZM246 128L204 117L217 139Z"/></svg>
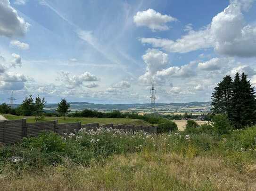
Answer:
<svg viewBox="0 0 256 191"><path fill-rule="evenodd" d="M256 96L247 75L225 76L212 94L213 115L226 115L234 128L256 124Z"/></svg>

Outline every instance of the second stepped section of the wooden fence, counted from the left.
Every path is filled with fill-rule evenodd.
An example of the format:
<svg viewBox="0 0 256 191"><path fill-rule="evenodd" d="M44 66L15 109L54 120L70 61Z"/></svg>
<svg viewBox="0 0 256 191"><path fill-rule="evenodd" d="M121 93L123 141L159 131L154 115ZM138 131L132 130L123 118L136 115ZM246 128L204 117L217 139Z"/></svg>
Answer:
<svg viewBox="0 0 256 191"><path fill-rule="evenodd" d="M38 136L41 131L56 131L57 121L27 123L27 136Z"/></svg>

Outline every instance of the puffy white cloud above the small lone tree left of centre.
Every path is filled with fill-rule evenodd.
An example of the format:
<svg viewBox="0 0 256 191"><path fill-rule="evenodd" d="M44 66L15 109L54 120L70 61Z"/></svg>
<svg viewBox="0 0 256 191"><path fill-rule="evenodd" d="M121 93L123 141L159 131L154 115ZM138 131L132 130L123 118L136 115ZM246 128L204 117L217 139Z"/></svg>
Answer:
<svg viewBox="0 0 256 191"><path fill-rule="evenodd" d="M69 72L65 71L60 71L59 76L57 80L62 81L67 88L73 89L75 87L79 86L85 86L90 87L90 84L84 84L86 82L93 82L93 81L98 81L99 78L97 78L95 75L91 74L90 72L84 72L81 75L74 75L74 76L69 76Z"/></svg>

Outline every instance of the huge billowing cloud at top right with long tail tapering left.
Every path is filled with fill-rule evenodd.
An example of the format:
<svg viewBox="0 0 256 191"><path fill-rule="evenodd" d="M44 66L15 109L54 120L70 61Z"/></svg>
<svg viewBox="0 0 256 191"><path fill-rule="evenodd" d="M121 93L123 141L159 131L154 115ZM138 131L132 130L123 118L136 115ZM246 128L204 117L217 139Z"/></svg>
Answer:
<svg viewBox="0 0 256 191"><path fill-rule="evenodd" d="M243 14L253 2L231 0L230 5L215 15L210 24L199 31L189 31L175 41L162 38L140 38L140 41L176 53L214 48L217 53L228 56L256 56L256 26L247 24Z"/></svg>

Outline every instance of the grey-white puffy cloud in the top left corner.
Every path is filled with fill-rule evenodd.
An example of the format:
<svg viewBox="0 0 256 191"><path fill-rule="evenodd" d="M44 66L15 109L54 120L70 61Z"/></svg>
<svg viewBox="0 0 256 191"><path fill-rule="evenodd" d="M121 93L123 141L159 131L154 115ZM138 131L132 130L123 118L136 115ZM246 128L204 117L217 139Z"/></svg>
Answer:
<svg viewBox="0 0 256 191"><path fill-rule="evenodd" d="M28 31L29 23L18 16L17 11L10 6L9 0L0 1L0 35L8 38L23 36Z"/></svg>

